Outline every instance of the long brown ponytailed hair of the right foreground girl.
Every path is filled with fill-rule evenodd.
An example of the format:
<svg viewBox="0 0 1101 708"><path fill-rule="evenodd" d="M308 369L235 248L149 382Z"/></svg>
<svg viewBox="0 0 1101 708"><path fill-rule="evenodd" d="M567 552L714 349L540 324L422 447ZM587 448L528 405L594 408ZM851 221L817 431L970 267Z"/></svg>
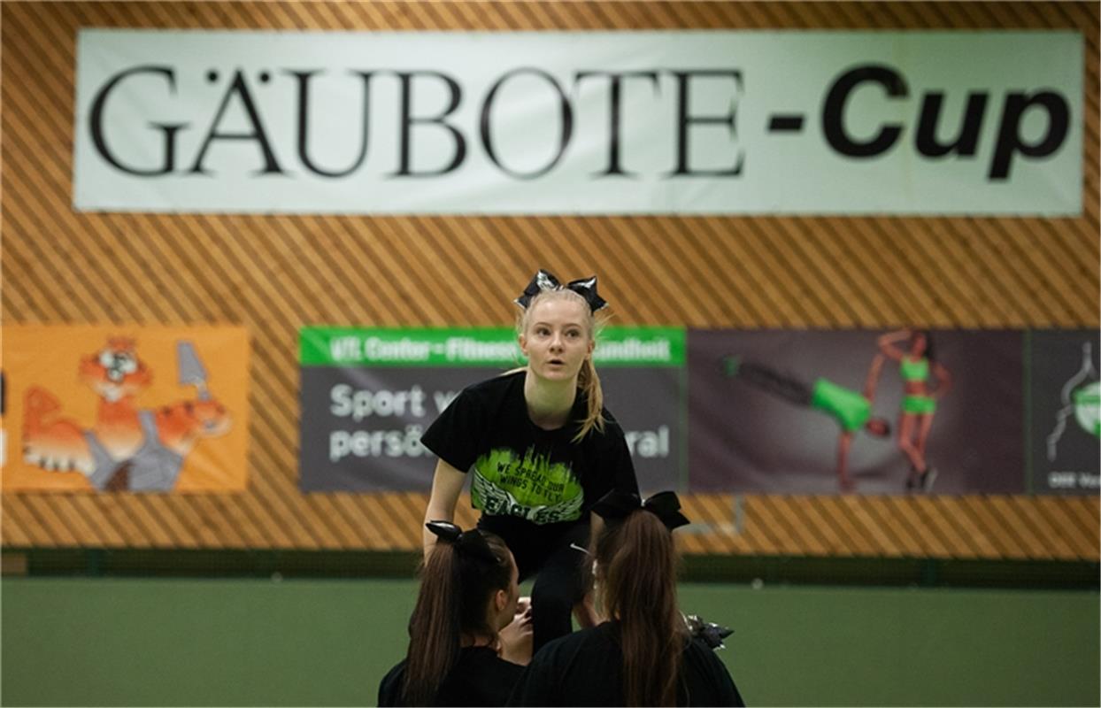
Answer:
<svg viewBox="0 0 1101 708"><path fill-rule="evenodd" d="M675 706L688 632L677 609L673 535L640 510L609 522L593 555L604 612L619 621L625 705Z"/></svg>

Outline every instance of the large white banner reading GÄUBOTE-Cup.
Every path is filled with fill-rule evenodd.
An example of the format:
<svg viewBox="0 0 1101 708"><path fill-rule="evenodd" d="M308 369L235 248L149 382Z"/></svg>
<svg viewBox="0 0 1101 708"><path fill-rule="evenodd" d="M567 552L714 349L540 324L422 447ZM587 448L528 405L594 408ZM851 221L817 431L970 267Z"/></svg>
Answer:
<svg viewBox="0 0 1101 708"><path fill-rule="evenodd" d="M1078 215L1061 32L81 30L74 206Z"/></svg>

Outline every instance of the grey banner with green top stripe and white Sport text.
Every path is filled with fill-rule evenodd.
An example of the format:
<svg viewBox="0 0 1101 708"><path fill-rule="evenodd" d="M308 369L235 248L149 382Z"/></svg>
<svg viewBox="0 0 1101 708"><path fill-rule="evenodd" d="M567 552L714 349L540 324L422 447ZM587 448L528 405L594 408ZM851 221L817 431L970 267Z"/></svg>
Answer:
<svg viewBox="0 0 1101 708"><path fill-rule="evenodd" d="M643 489L683 481L685 334L609 327L595 359ZM299 483L304 491L430 488L423 432L467 385L521 366L509 328L301 331Z"/></svg>

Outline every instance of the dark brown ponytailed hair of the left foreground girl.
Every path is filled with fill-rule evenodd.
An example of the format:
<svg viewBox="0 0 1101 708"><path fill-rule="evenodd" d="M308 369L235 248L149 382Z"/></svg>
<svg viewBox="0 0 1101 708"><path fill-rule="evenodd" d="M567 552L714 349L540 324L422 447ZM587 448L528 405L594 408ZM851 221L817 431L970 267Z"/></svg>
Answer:
<svg viewBox="0 0 1101 708"><path fill-rule="evenodd" d="M497 535L486 537L497 563L489 564L439 541L421 568L421 592L410 619L402 699L406 706L430 706L440 684L459 658L462 636L497 636L486 622L490 598L509 590L512 557Z"/></svg>

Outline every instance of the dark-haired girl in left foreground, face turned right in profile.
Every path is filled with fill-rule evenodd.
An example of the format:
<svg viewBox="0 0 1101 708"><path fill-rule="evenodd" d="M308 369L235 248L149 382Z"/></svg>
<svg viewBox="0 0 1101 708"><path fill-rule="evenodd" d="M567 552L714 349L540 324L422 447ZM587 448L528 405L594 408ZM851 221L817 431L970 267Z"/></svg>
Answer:
<svg viewBox="0 0 1101 708"><path fill-rule="evenodd" d="M421 570L405 660L379 685L380 706L503 706L532 656L516 616L516 564L493 534L433 521L440 542Z"/></svg>

